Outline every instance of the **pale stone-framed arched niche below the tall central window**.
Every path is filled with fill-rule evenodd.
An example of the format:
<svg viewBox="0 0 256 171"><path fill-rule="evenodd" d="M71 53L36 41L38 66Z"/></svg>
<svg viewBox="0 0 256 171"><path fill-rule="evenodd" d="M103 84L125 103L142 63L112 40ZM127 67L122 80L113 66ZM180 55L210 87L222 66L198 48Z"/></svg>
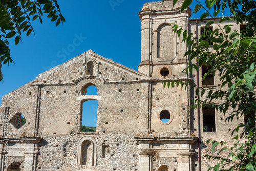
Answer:
<svg viewBox="0 0 256 171"><path fill-rule="evenodd" d="M92 165L97 164L97 142L90 136L81 138L78 142L77 151L78 165Z"/></svg>

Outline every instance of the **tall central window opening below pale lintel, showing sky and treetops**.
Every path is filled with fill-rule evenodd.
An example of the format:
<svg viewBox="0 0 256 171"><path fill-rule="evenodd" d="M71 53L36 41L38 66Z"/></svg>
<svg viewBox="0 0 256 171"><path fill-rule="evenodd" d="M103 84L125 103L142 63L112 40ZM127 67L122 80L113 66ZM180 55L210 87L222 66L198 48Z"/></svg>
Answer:
<svg viewBox="0 0 256 171"><path fill-rule="evenodd" d="M88 100L82 103L81 132L96 132L97 110L97 100Z"/></svg>

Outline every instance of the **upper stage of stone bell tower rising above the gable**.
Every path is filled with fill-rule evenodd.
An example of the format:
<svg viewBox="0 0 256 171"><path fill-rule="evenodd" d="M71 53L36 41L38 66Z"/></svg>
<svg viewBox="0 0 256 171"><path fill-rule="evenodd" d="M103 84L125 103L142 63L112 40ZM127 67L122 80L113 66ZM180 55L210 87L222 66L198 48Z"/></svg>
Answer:
<svg viewBox="0 0 256 171"><path fill-rule="evenodd" d="M181 13L183 2L178 1L174 8L173 1L144 4L139 12L142 27L139 72L155 79L170 78L173 74L181 76L178 69L181 66L177 67L177 64L184 61L187 46L181 43L182 37L179 39L170 24L188 29L191 10L187 8Z"/></svg>

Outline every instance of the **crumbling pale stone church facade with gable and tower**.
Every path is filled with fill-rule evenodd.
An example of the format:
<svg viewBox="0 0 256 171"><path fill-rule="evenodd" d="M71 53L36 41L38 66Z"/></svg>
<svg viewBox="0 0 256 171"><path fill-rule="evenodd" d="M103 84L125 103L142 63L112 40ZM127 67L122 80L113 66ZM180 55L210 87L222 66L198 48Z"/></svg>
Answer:
<svg viewBox="0 0 256 171"><path fill-rule="evenodd" d="M196 33L209 21L189 19L189 8L180 13L182 1L172 3L147 3L139 12L139 71L89 50L3 96L1 170L189 171L200 163L207 170L212 162L202 157L210 153L205 141L229 139L240 120L224 124L224 114L214 111L215 121L205 124L211 131L204 132L203 109L189 108L193 90L163 88L163 81L197 82L196 71L182 72L188 47L169 23ZM216 89L218 79L211 85ZM97 95L87 95L90 86ZM98 100L96 132L81 132L87 100Z"/></svg>

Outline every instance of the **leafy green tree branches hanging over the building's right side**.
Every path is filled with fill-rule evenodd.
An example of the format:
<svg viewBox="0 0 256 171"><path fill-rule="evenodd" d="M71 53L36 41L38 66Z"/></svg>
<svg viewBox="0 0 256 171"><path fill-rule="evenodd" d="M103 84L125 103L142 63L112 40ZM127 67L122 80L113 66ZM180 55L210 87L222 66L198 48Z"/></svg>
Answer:
<svg viewBox="0 0 256 171"><path fill-rule="evenodd" d="M174 5L178 0L174 0ZM205 96L198 100L194 99L192 108L200 106L213 107L216 110L227 114L226 121L232 121L240 115L251 116L247 122L238 125L232 132L233 144L227 147L226 142L208 140L212 146L212 155L206 155L208 159L220 160L220 163L210 169L214 170L256 170L256 136L255 136L255 74L256 74L256 1L251 0L206 0L201 4L195 0L194 13L200 9L205 12L201 15L202 21L205 17L212 17L205 28L215 24L215 30L204 29L198 37L187 30L181 29L173 24L175 33L184 43L190 47L184 57L189 56L189 66L184 70L187 74L193 69L199 70L202 66L207 66L208 72L203 76L204 80L208 75L220 73L221 88L199 87L194 82L168 82L164 87L178 87L196 90L196 95ZM163 0L164 2L164 0ZM186 9L192 0L185 0L182 10ZM214 10L213 13L210 11ZM230 12L232 17L222 17L216 20L218 13ZM238 30L231 31L232 25L221 27L221 23L233 20L234 24L246 24L246 31L240 33ZM211 46L212 45L212 46ZM221 100L222 103L216 103ZM230 112L232 111L232 112ZM220 147L217 155L214 155L216 148ZM216 151L217 152L217 151ZM229 155L223 157L224 152Z"/></svg>

